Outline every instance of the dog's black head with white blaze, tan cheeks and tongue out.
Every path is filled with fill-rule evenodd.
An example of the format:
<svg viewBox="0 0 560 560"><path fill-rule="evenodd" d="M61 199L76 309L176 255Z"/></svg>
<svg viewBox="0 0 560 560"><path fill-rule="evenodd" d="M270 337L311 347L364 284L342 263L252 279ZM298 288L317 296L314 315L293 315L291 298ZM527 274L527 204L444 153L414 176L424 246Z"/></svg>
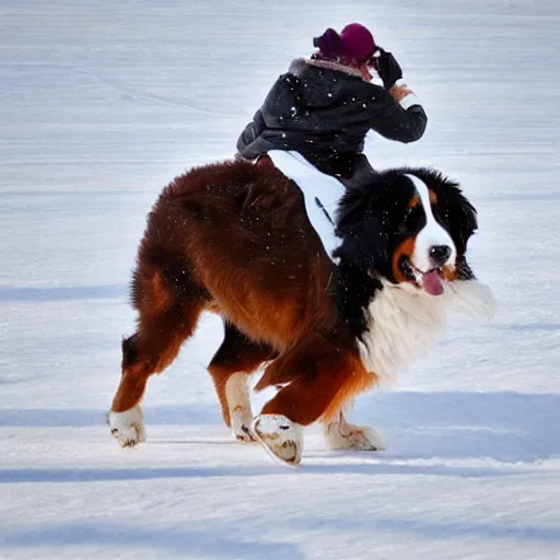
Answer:
<svg viewBox="0 0 560 560"><path fill-rule="evenodd" d="M465 254L476 229L476 210L456 183L427 168L389 170L342 197L335 256L438 296L452 282L475 278Z"/></svg>

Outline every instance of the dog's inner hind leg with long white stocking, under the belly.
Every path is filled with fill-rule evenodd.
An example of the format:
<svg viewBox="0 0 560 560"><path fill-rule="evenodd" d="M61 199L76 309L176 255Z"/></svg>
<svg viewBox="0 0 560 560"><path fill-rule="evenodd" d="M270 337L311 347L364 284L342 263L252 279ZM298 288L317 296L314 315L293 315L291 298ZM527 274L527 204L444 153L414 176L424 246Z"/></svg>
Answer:
<svg viewBox="0 0 560 560"><path fill-rule="evenodd" d="M233 325L224 322L224 339L208 371L220 399L223 420L241 442L254 441L250 432L253 412L249 398L249 374L273 357L267 345L254 342Z"/></svg>

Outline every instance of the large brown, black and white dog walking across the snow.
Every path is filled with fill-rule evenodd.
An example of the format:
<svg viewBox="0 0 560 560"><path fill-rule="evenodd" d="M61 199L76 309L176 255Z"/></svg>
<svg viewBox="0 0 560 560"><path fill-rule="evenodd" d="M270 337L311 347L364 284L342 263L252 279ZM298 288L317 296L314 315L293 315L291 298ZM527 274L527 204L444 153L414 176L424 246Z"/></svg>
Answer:
<svg viewBox="0 0 560 560"><path fill-rule="evenodd" d="M197 167L163 190L139 248L138 329L122 341L108 413L121 445L144 440L148 377L212 311L225 336L209 372L238 440L298 464L303 427L319 420L334 448L384 447L346 421L355 395L424 354L450 310L491 313L465 256L476 211L440 173L398 168L347 190L334 218L330 258L301 190L268 158ZM254 419L248 380L264 363L256 389L278 392Z"/></svg>

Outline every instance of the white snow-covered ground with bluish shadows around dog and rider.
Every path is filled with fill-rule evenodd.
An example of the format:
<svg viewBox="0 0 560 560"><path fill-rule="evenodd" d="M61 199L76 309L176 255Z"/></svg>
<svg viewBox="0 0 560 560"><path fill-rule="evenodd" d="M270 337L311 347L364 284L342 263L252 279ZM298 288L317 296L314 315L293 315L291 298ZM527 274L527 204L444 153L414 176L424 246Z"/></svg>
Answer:
<svg viewBox="0 0 560 560"><path fill-rule="evenodd" d="M429 115L371 160L462 183L494 320L454 319L359 399L386 452L312 428L288 469L222 425L209 316L150 382L148 442L119 448L104 413L147 211L350 21ZM0 558L560 558L559 24L556 0L0 0Z"/></svg>

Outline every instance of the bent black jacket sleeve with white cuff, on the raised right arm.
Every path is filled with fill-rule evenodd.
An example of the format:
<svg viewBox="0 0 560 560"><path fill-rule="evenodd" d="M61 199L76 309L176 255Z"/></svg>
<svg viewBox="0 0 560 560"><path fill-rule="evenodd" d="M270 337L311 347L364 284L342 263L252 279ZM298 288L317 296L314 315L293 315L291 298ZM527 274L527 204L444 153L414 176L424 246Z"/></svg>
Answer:
<svg viewBox="0 0 560 560"><path fill-rule="evenodd" d="M386 90L376 97L378 105L372 115L372 130L398 142L408 143L422 138L428 117L413 94L407 95L400 103L397 103Z"/></svg>

